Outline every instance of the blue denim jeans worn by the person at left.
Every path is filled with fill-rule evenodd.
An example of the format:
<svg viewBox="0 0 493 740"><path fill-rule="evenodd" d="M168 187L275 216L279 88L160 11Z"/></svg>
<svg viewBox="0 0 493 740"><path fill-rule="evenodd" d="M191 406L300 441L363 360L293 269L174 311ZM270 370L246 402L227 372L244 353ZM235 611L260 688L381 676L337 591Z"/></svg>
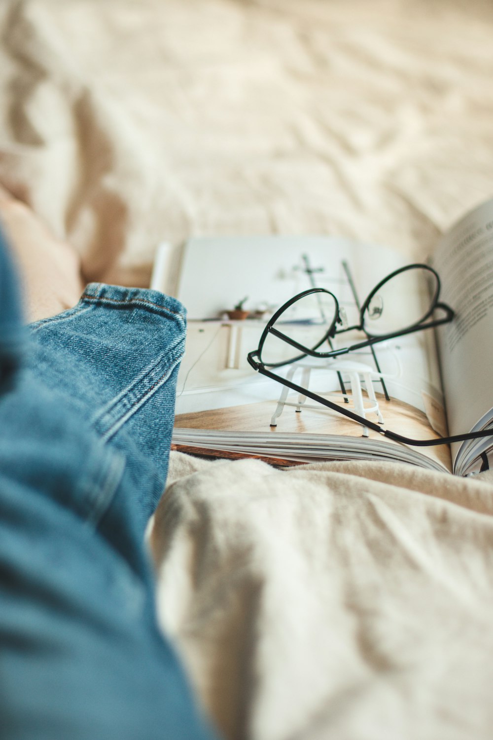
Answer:
<svg viewBox="0 0 493 740"><path fill-rule="evenodd" d="M92 284L21 325L0 237L0 737L211 739L157 628L143 546L186 320Z"/></svg>

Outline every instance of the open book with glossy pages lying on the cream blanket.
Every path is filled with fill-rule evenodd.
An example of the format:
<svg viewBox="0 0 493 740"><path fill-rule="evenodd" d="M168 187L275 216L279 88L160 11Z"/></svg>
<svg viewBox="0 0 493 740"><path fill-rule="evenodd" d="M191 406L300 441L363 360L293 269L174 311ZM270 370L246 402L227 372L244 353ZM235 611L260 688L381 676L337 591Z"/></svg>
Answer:
<svg viewBox="0 0 493 740"><path fill-rule="evenodd" d="M430 261L441 278L440 300L455 312L451 323L341 358L307 357L276 372L347 408L363 408L368 420L406 437L488 428L493 422L493 201L457 223ZM327 289L353 325L373 287L404 264L391 249L333 237L195 238L179 258L161 249L152 287L176 295L188 309L173 447L279 464L398 460L458 475L486 468L490 454L493 461L493 430L491 438L452 448L395 443L288 392L248 365L247 354L258 346L266 321L290 297L312 286ZM407 314L426 311L420 306L429 297L416 284L393 300L392 311L401 312L405 323ZM229 317L238 303L248 316ZM313 346L320 315L291 321L303 343Z"/></svg>

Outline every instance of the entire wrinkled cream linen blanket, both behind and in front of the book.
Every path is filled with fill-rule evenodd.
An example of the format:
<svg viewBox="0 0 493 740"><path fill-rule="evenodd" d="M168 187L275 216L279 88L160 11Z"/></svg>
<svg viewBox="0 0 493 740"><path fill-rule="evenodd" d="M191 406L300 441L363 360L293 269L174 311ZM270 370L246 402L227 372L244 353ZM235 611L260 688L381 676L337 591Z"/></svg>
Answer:
<svg viewBox="0 0 493 740"><path fill-rule="evenodd" d="M493 193L489 0L3 0L0 33L0 178L88 280L190 235L423 258ZM492 737L487 477L171 474L160 616L225 736Z"/></svg>

